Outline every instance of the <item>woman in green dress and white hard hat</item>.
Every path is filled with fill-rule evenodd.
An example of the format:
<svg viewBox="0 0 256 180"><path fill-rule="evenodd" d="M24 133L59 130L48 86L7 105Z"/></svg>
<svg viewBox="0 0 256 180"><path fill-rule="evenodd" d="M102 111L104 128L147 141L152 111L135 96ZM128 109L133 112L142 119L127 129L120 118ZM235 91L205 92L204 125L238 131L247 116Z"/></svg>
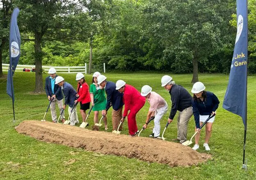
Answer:
<svg viewBox="0 0 256 180"><path fill-rule="evenodd" d="M97 84L97 78L101 73L95 72L92 76L92 84L90 86L90 96L91 104L93 106L92 110L94 111L94 124L98 123L98 112L106 109L106 98L105 98L105 89L100 89ZM94 103L95 102L95 103ZM103 118L105 123L105 130L107 130L107 116Z"/></svg>

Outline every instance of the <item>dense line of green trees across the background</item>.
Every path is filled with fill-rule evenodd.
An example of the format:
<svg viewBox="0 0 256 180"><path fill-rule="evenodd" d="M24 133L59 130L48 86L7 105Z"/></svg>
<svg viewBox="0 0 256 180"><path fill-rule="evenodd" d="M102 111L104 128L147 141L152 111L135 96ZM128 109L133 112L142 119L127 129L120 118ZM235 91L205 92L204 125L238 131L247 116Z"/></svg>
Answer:
<svg viewBox="0 0 256 180"><path fill-rule="evenodd" d="M19 64L107 64L120 71L229 73L236 36L233 0L0 0L0 76L9 62L11 11L18 6ZM256 1L248 0L248 71L256 73ZM89 72L91 73L91 72Z"/></svg>

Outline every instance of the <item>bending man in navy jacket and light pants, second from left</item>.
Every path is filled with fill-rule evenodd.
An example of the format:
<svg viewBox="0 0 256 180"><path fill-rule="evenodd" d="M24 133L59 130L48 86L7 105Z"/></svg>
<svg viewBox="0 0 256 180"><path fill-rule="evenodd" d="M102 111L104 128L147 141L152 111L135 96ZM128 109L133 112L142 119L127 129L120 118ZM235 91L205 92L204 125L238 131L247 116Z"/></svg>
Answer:
<svg viewBox="0 0 256 180"><path fill-rule="evenodd" d="M73 88L71 84L68 82L64 82L64 78L61 76L58 76L56 78L55 84L58 84L59 87L62 88L64 96L65 96L65 103L63 108L66 109L66 105L69 105L69 118L70 118L70 125L74 126L76 123L78 123L78 115L76 113L76 104L74 104L75 99L76 99L76 94L77 92ZM73 111L71 112L73 106L75 105Z"/></svg>

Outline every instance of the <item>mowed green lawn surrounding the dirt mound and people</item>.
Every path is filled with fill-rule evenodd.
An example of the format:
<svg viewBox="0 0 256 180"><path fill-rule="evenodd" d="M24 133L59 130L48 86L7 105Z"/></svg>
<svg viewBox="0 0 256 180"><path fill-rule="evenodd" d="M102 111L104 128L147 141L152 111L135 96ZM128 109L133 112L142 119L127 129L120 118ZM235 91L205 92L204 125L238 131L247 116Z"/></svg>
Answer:
<svg viewBox="0 0 256 180"><path fill-rule="evenodd" d="M59 74L76 88L75 74ZM150 85L153 91L159 93L168 102L169 110L171 100L169 93L161 87L161 73L105 73L107 80L116 82L119 79L135 86L139 91L145 84ZM176 84L181 84L189 92L191 74L174 75ZM43 75L45 79L47 74ZM13 124L11 98L6 94L6 81L0 79L0 179L1 180L245 180L256 178L255 156L255 107L256 107L256 77L248 77L248 129L246 157L248 158L248 171L241 169L244 126L239 116L222 108L222 102L228 83L228 75L200 74L199 79L220 100L217 117L213 124L213 133L210 139L210 152L203 150L203 130L200 139L199 152L210 153L213 157L206 163L192 167L169 167L158 163L148 163L126 157L102 155L75 149L59 144L40 142L34 138L18 134L14 127L23 120L41 120L48 106L45 94L31 95L34 90L34 73L16 72L14 75L15 112L16 123ZM91 75L86 80L91 84ZM149 103L137 114L138 129L145 122ZM161 120L161 133L167 122L169 111ZM66 118L68 113L65 113ZM78 117L81 120L80 113ZM109 132L112 130L111 110L108 112ZM165 137L168 141L176 138L177 116L174 118ZM51 121L50 111L46 119ZM89 129L93 124L92 114L89 116ZM194 133L194 118L189 122L188 138ZM153 122L141 136L149 136ZM103 131L104 126L101 127ZM124 123L123 134L128 134L127 121ZM136 138L134 139L136 140ZM160 140L159 140L160 141ZM158 140L155 141L156 144Z"/></svg>

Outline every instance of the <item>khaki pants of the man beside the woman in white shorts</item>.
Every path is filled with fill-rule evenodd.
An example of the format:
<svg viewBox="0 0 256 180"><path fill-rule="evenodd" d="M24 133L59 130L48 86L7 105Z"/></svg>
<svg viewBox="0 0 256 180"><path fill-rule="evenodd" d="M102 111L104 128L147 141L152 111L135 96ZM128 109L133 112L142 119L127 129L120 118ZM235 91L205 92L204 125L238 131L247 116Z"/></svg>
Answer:
<svg viewBox="0 0 256 180"><path fill-rule="evenodd" d="M183 111L179 111L177 120L177 139L180 142L185 142L187 140L187 124L193 115L192 107L187 107Z"/></svg>

